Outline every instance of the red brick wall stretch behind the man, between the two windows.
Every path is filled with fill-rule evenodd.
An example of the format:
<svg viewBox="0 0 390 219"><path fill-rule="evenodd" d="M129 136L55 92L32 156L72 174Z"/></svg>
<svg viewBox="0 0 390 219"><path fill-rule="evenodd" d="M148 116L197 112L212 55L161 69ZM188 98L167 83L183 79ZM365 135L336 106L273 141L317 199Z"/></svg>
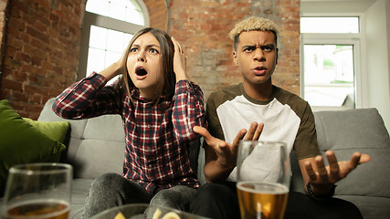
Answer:
<svg viewBox="0 0 390 219"><path fill-rule="evenodd" d="M265 16L279 25L279 63L273 82L299 94L299 0L171 0L169 15L168 31L184 47L187 71L206 97L241 81L233 63L233 42L227 35L247 16Z"/></svg>

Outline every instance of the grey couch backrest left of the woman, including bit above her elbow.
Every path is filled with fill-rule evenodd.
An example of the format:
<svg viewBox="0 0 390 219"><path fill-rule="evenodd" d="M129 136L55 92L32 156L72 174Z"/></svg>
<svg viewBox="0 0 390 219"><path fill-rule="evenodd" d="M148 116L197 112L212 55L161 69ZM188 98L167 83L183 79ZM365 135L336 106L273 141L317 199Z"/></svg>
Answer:
<svg viewBox="0 0 390 219"><path fill-rule="evenodd" d="M38 120L64 120L51 110L54 100L47 100ZM73 166L76 178L94 179L105 172L122 172L125 143L121 116L67 121L70 129L62 161Z"/></svg>

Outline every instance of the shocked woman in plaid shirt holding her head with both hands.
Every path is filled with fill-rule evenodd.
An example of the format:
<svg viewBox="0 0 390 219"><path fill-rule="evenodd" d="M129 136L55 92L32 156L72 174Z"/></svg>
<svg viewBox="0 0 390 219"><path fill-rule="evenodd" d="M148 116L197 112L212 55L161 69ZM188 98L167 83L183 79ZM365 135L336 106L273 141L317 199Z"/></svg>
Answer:
<svg viewBox="0 0 390 219"><path fill-rule="evenodd" d="M111 86L107 81L121 75ZM185 210L199 187L190 166L195 125L206 126L202 90L188 80L174 37L145 28L120 60L65 89L53 110L65 119L120 114L125 130L123 173L106 173L90 188L83 217L125 203Z"/></svg>

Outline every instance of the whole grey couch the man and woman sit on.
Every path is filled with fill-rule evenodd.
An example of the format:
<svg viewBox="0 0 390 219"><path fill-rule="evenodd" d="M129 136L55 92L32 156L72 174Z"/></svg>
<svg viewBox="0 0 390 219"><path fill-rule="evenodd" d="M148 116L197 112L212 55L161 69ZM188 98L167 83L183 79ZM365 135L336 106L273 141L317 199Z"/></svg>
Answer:
<svg viewBox="0 0 390 219"><path fill-rule="evenodd" d="M63 120L51 110L49 99L38 120ZM390 215L390 139L384 121L375 109L315 112L321 151L335 151L339 161L350 159L353 151L368 153L372 161L359 166L337 183L335 196L355 203L365 219L389 218ZM121 173L124 133L118 115L90 120L69 120L67 151L63 162L74 168L70 218L79 218L90 183L104 172ZM204 151L194 147L193 164L197 164L202 183ZM197 156L197 154L199 154ZM196 163L197 162L197 163ZM291 153L291 190L303 193L298 162Z"/></svg>

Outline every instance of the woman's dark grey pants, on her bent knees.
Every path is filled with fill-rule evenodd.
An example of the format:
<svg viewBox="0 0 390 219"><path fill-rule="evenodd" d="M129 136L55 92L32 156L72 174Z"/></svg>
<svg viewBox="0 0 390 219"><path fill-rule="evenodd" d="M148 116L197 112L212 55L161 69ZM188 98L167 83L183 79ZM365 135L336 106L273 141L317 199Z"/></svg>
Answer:
<svg viewBox="0 0 390 219"><path fill-rule="evenodd" d="M161 190L153 196L147 193L140 184L125 179L120 174L105 173L90 185L82 218L89 218L106 209L127 203L151 203L155 206L188 211L195 193L194 188L176 185Z"/></svg>

